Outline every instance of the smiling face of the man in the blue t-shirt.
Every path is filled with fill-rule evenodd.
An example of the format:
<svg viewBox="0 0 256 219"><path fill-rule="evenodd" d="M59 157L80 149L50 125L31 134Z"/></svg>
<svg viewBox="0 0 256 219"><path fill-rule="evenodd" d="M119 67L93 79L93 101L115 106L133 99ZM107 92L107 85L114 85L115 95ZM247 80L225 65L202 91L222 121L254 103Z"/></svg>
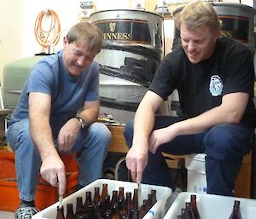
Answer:
<svg viewBox="0 0 256 219"><path fill-rule="evenodd" d="M88 49L86 42L67 43L67 39L64 39L63 61L73 77L79 76L84 68L90 66L95 56L96 53Z"/></svg>

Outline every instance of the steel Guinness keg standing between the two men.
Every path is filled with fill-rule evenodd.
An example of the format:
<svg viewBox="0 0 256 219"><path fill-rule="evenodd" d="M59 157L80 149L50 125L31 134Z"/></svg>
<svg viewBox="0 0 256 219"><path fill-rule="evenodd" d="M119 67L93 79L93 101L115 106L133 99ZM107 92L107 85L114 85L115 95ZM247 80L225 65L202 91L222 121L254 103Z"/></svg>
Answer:
<svg viewBox="0 0 256 219"><path fill-rule="evenodd" d="M113 9L90 14L90 22L102 31L100 67L103 107L123 110L132 118L163 58L163 17L144 10ZM112 110L113 111L113 110Z"/></svg>

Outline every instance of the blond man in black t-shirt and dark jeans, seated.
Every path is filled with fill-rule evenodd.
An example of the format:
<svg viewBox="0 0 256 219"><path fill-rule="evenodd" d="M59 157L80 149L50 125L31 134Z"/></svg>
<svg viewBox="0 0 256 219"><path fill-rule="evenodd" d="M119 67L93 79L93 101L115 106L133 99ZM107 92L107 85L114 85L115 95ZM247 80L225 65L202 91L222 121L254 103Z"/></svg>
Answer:
<svg viewBox="0 0 256 219"><path fill-rule="evenodd" d="M206 153L207 193L231 196L254 141L253 55L246 45L219 37L210 3L189 3L175 23L182 44L166 55L134 123L126 124L126 165L134 181L175 190L161 152ZM155 116L174 89L182 113Z"/></svg>

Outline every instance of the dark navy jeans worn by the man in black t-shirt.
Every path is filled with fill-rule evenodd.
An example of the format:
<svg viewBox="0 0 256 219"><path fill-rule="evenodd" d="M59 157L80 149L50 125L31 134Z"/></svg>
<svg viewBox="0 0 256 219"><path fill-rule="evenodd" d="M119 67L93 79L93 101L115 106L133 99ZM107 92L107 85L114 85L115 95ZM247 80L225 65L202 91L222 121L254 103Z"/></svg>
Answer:
<svg viewBox="0 0 256 219"><path fill-rule="evenodd" d="M156 116L154 130L181 121L181 118ZM132 145L133 121L125 125L125 140ZM143 171L143 183L176 189L163 153L185 155L206 153L207 193L233 196L236 176L242 158L253 147L254 130L243 124L218 124L206 132L179 135L161 145L156 153L148 153L148 165Z"/></svg>

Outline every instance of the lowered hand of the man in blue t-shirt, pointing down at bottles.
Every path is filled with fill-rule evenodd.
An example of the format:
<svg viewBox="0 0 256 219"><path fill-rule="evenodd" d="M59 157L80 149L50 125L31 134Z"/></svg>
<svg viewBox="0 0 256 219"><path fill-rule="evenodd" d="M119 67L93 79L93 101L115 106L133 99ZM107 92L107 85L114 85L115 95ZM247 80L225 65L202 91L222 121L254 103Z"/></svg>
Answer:
<svg viewBox="0 0 256 219"><path fill-rule="evenodd" d="M59 193L63 195L66 191L66 172L65 165L57 153L44 159L41 170L41 176L53 187L59 182Z"/></svg>

